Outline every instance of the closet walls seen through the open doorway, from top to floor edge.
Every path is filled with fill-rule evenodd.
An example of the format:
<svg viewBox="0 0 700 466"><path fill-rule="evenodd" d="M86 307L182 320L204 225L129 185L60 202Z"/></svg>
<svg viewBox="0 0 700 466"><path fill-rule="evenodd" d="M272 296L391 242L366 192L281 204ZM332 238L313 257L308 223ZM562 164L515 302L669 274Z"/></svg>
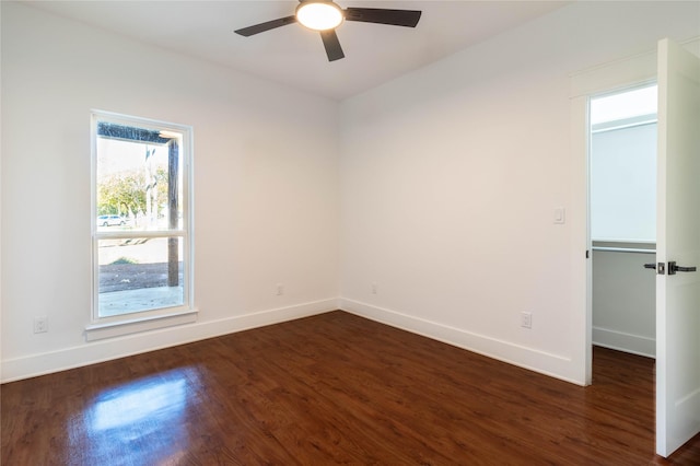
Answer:
<svg viewBox="0 0 700 466"><path fill-rule="evenodd" d="M592 343L655 357L655 83L590 100Z"/></svg>

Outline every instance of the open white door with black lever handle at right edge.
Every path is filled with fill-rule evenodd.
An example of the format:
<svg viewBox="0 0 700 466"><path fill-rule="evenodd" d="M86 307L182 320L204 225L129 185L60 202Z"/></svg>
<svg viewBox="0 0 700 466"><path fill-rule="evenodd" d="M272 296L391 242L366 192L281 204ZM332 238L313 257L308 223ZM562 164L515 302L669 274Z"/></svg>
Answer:
<svg viewBox="0 0 700 466"><path fill-rule="evenodd" d="M700 432L700 58L668 39L657 176L656 453L668 456Z"/></svg>

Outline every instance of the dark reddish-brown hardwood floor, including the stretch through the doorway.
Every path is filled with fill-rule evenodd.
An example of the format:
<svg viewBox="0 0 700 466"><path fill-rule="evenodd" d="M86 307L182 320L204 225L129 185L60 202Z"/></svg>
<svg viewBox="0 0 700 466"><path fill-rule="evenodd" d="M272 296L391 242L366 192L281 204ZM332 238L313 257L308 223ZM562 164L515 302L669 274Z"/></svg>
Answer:
<svg viewBox="0 0 700 466"><path fill-rule="evenodd" d="M343 312L1 387L2 465L700 464L654 455L653 361L579 387Z"/></svg>

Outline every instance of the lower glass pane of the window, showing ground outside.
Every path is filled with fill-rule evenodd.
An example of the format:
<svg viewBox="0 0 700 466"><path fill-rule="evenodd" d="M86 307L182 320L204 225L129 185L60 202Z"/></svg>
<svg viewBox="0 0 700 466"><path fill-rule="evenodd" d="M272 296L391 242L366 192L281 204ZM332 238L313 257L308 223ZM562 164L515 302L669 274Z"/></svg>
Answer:
<svg viewBox="0 0 700 466"><path fill-rule="evenodd" d="M185 302L183 237L100 240L98 316Z"/></svg>

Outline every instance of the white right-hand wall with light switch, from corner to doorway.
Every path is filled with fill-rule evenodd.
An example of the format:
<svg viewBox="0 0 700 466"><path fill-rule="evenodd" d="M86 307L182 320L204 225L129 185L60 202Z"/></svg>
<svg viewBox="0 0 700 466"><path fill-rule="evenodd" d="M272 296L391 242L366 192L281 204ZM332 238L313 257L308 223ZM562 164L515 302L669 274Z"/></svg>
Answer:
<svg viewBox="0 0 700 466"><path fill-rule="evenodd" d="M698 35L699 13L574 3L343 102L343 308L585 383L570 74Z"/></svg>

